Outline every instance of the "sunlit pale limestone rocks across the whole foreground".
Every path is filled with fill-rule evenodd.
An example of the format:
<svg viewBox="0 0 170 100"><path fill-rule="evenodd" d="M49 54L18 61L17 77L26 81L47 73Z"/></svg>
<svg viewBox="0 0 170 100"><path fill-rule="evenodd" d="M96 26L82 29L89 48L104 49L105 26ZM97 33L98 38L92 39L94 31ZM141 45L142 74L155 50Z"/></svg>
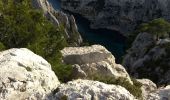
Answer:
<svg viewBox="0 0 170 100"><path fill-rule="evenodd" d="M71 49L73 51L67 51ZM79 50L83 52L80 53ZM116 64L114 56L103 46L70 47L63 49L62 53L63 58L74 54L72 59L77 59L75 55L78 55L79 58L82 57L82 61L84 57L92 59L98 57L98 54L102 54L102 57L90 63L86 60L85 64L72 64L73 67L76 65L79 68L75 74L82 71L87 76L61 84L51 70L51 65L30 50L21 48L2 51L0 52L0 100L136 100L136 97L122 86L87 80L95 73L103 77L122 75L130 81L123 66ZM150 80L138 81L142 83L144 100L170 100L170 86L157 89Z"/></svg>

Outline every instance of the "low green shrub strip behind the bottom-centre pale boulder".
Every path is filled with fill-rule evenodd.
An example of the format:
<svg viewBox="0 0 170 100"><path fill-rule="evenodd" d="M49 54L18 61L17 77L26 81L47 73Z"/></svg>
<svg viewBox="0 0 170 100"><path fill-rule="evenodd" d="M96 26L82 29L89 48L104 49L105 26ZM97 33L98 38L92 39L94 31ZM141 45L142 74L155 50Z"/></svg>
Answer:
<svg viewBox="0 0 170 100"><path fill-rule="evenodd" d="M93 80L104 82L107 84L120 85L120 86L126 88L132 95L134 95L138 99L142 99L142 90L141 90L142 84L139 83L135 79L131 79L133 81L133 85L130 84L125 78L115 79L113 77L106 78L106 77L102 77L102 76L101 77L95 76L95 77L93 77Z"/></svg>

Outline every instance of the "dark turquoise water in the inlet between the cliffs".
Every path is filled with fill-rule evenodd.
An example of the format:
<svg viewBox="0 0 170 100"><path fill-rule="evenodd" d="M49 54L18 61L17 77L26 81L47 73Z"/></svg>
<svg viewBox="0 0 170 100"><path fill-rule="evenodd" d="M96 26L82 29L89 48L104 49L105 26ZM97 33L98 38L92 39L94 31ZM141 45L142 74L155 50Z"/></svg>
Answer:
<svg viewBox="0 0 170 100"><path fill-rule="evenodd" d="M59 0L48 0L55 9L60 9ZM120 62L121 57L125 54L125 37L116 31L107 29L91 29L90 22L78 14L70 13L75 16L76 23L83 39L90 44L101 44L105 46Z"/></svg>

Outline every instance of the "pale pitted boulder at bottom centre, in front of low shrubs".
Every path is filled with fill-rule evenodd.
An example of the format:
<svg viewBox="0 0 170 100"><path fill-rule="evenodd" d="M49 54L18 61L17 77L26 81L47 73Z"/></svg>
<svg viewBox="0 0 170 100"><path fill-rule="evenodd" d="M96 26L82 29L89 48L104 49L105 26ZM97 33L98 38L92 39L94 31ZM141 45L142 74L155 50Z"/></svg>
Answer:
<svg viewBox="0 0 170 100"><path fill-rule="evenodd" d="M61 84L54 97L56 100L134 100L121 86L81 79Z"/></svg>

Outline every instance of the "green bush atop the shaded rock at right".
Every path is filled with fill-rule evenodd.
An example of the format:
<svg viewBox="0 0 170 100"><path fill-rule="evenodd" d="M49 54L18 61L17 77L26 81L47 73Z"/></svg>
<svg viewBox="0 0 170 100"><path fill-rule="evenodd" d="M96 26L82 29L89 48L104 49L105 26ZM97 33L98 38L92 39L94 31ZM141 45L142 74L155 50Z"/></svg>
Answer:
<svg viewBox="0 0 170 100"><path fill-rule="evenodd" d="M129 33L127 39L127 49L131 47L131 44L141 32L151 33L157 39L160 37L168 37L168 35L170 35L170 23L162 18L158 18L148 23L140 24L134 32Z"/></svg>

